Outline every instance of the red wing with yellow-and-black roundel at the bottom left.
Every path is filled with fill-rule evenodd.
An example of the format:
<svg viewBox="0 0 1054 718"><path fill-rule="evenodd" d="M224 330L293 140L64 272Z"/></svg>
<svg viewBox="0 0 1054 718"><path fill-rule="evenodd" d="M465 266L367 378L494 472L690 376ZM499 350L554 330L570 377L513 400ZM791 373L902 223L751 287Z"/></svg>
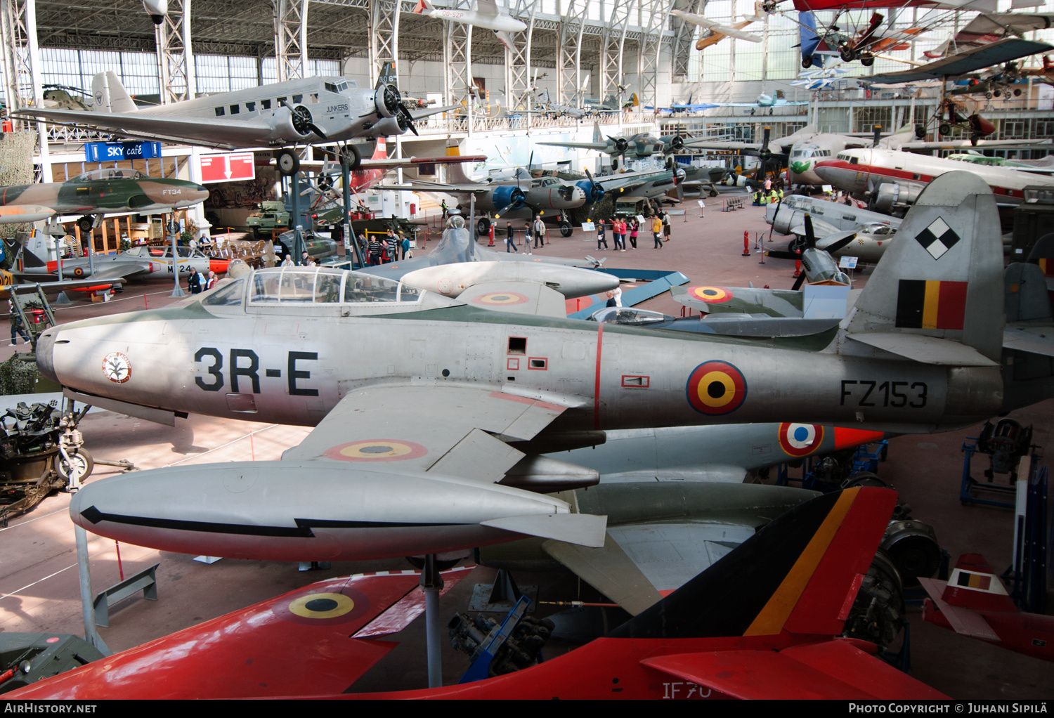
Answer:
<svg viewBox="0 0 1054 718"><path fill-rule="evenodd" d="M471 568L445 571L444 590ZM21 691L37 700L338 694L398 645L369 637L402 630L421 613L419 582L412 570L320 581Z"/></svg>

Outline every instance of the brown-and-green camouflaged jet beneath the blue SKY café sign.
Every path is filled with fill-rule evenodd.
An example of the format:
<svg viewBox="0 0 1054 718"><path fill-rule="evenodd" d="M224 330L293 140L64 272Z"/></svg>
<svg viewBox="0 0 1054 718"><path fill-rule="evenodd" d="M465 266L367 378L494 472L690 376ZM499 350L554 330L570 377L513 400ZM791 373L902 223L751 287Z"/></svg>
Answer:
<svg viewBox="0 0 1054 718"><path fill-rule="evenodd" d="M109 168L64 182L0 187L0 224L79 214L77 226L86 233L108 214L168 212L192 207L208 197L209 190L197 182Z"/></svg>

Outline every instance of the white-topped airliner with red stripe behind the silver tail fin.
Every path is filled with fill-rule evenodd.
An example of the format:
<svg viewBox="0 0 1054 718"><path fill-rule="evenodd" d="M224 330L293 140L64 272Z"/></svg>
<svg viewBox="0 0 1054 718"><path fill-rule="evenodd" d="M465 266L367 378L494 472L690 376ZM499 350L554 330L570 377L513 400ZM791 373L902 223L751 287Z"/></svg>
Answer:
<svg viewBox="0 0 1054 718"><path fill-rule="evenodd" d="M935 177L960 171L961 167L962 162L954 159L873 148L845 150L835 158L817 162L813 171L825 183L866 199L873 209L887 212L915 202ZM1054 178L1030 172L983 164L970 171L992 188L999 205L1023 202L1026 187L1054 187Z"/></svg>

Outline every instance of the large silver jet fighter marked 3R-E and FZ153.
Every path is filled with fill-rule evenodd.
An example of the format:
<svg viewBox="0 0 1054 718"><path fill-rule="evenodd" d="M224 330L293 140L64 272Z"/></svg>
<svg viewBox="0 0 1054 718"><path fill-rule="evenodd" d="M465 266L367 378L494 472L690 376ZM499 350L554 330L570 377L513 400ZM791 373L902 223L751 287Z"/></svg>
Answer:
<svg viewBox="0 0 1054 718"><path fill-rule="evenodd" d="M776 420L864 422L881 431L969 426L1002 406L994 208L972 174L938 178L901 226L911 240L883 257L852 312L807 336L588 323L543 311L551 306L540 299L547 294L563 304L547 287L476 285L451 299L320 268L257 270L179 307L54 327L38 342L38 362L77 401L170 423L193 411L315 427L281 462L189 467L181 490L163 496L165 469L140 472L135 498L101 480L78 493L71 511L118 540L264 558L270 549L248 527L259 525L261 497L288 482L294 488L271 506L293 493L301 499L280 523L278 509L268 509L267 530L281 528L268 533L280 533L268 544L275 554L377 556L383 550L369 546L403 550L401 532L422 524L464 526L479 518L451 508L468 500L464 492L450 503L414 501L443 493L418 493L422 474L487 490L494 482L544 488L568 465L535 463L509 443L547 428ZM347 488L334 494L338 476ZM596 472L583 470L581 481L594 482ZM375 482L384 490L374 490ZM528 535L578 530L558 526L559 505L501 511L487 511L463 543L479 543L481 525ZM373 528L375 544L363 533Z"/></svg>

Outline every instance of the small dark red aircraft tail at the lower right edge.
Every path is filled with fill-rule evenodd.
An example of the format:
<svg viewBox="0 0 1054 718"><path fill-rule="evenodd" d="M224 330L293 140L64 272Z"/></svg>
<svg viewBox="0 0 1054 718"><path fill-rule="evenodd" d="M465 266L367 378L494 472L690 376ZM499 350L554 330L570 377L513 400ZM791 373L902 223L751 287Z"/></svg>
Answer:
<svg viewBox="0 0 1054 718"><path fill-rule="evenodd" d="M980 554L963 554L948 583L919 579L922 620L987 643L1054 661L1054 616L1022 614Z"/></svg>

